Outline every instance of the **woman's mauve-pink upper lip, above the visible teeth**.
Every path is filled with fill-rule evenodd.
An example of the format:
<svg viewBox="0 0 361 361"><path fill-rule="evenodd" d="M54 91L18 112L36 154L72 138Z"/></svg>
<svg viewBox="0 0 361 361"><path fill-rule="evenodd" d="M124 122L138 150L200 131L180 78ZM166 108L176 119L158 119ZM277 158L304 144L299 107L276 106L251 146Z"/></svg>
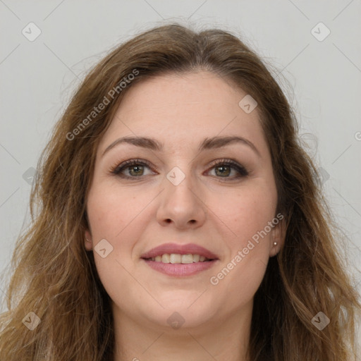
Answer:
<svg viewBox="0 0 361 361"><path fill-rule="evenodd" d="M177 243L164 243L163 245L159 245L152 248L152 250L143 253L140 257L152 258L164 255L166 253L175 253L177 255L200 255L207 257L208 259L218 259L214 253L200 245L195 245L195 243L188 243L186 245L179 245Z"/></svg>

